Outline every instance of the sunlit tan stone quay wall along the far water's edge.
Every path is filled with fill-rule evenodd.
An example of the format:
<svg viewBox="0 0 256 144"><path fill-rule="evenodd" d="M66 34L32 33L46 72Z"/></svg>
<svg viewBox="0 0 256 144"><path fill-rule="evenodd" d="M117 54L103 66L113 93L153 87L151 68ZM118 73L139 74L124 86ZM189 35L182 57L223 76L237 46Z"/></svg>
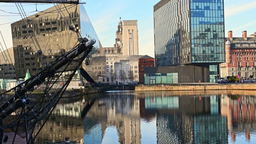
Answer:
<svg viewBox="0 0 256 144"><path fill-rule="evenodd" d="M213 85L139 85L135 91L182 91L182 90L256 90L256 84L213 84Z"/></svg>

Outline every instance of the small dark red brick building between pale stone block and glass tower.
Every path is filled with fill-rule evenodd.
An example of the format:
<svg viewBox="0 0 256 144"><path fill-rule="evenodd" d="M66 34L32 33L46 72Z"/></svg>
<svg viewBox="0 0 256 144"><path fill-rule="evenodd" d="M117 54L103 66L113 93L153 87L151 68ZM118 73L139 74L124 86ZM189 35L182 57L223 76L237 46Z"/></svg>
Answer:
<svg viewBox="0 0 256 144"><path fill-rule="evenodd" d="M139 67L139 83L144 84L144 67L154 67L155 66L155 59L145 55L138 60L138 67Z"/></svg>

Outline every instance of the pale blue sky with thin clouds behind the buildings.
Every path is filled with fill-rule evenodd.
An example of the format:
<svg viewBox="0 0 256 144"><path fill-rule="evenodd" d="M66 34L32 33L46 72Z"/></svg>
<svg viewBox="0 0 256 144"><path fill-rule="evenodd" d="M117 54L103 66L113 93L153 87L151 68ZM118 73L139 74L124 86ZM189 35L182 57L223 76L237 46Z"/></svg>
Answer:
<svg viewBox="0 0 256 144"><path fill-rule="evenodd" d="M103 47L112 47L116 30L121 20L138 20L139 54L154 57L154 17L153 6L160 0L82 0ZM53 4L22 4L29 16L33 11L42 11ZM10 13L11 12L11 13ZM12 47L11 23L21 18L14 3L0 2L0 44L1 49ZM242 37L256 32L256 0L224 0L225 37L233 31L233 37ZM5 42L5 44L4 44ZM5 46L6 45L6 46Z"/></svg>

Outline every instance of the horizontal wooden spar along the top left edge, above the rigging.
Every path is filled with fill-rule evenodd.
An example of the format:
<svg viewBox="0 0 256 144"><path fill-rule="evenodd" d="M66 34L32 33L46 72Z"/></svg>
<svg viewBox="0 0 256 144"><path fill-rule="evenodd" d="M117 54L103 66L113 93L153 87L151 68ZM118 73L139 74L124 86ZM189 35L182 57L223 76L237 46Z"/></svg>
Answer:
<svg viewBox="0 0 256 144"><path fill-rule="evenodd" d="M0 0L0 2L20 2L20 3L57 3L57 4L86 4L86 2L72 0Z"/></svg>

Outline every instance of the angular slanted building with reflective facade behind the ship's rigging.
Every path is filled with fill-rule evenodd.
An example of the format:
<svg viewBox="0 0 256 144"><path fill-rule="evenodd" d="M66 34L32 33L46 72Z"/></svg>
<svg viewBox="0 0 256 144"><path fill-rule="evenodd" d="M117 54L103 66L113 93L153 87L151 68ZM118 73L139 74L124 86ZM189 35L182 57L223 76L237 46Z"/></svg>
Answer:
<svg viewBox="0 0 256 144"><path fill-rule="evenodd" d="M29 16L26 20L12 23L17 77L25 76L27 69L31 75L37 74L44 69L46 62L52 64L60 55L70 51L77 44L78 35L69 30L68 26L73 26L83 38L96 39L94 47L101 47L82 4L58 4ZM46 61L38 55L38 50L42 50ZM79 78L78 74L74 78Z"/></svg>

